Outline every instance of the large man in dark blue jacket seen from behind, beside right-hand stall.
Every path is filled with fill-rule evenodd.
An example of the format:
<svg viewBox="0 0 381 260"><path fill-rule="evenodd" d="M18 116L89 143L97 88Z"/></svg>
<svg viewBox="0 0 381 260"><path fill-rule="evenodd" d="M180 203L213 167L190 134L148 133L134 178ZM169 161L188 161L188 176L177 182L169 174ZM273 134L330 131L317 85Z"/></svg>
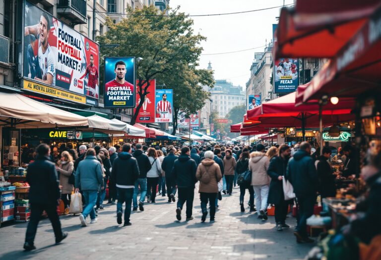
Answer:
<svg viewBox="0 0 381 260"><path fill-rule="evenodd" d="M318 173L311 155L311 145L302 142L299 150L290 159L287 166L286 179L292 184L296 195L299 210L298 225L294 235L298 243L312 243L313 239L307 235L307 218L314 213L316 194L318 191Z"/></svg>

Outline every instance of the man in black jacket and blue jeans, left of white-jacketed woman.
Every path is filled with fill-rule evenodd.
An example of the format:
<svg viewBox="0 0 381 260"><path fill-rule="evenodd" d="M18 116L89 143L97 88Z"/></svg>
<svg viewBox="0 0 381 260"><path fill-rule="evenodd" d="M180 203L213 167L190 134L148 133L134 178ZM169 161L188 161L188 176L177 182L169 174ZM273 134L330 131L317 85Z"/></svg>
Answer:
<svg viewBox="0 0 381 260"><path fill-rule="evenodd" d="M133 153L133 156L137 160L137 164L139 166L139 178L135 181L135 189L133 191L133 211L137 210L137 206L139 205L139 210L144 210L144 199L147 194L147 172L151 169L151 163L143 153L141 144L136 144L136 151ZM140 199L139 204L137 203L137 193L139 192L140 186Z"/></svg>

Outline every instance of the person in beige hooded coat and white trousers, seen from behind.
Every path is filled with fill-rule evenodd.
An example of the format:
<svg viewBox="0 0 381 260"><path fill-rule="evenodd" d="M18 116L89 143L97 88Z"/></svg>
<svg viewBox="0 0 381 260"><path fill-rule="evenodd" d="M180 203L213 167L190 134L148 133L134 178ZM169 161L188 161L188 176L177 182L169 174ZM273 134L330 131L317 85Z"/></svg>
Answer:
<svg viewBox="0 0 381 260"><path fill-rule="evenodd" d="M263 153L264 146L256 146L257 152L250 154L249 170L252 171L252 185L255 193L255 207L259 210L258 218L267 220L265 210L267 208L267 197L270 185L270 176L267 175L269 158Z"/></svg>

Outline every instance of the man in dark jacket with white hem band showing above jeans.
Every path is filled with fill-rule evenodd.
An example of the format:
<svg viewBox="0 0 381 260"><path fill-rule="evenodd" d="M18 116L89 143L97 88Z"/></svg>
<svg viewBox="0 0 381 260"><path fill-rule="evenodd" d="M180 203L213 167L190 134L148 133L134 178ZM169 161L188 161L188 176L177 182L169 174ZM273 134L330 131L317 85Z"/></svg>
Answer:
<svg viewBox="0 0 381 260"><path fill-rule="evenodd" d="M126 202L125 224L130 226L129 216L131 214L131 204L135 181L139 177L139 167L137 161L132 157L131 146L125 144L122 153L114 160L111 176L118 189L117 222L122 224L123 203Z"/></svg>

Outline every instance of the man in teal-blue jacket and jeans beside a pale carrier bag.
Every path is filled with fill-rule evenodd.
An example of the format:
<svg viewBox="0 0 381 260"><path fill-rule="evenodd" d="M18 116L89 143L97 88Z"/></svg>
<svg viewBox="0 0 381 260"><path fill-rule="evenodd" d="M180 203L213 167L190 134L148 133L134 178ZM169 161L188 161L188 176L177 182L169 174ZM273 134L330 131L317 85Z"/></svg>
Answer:
<svg viewBox="0 0 381 260"><path fill-rule="evenodd" d="M96 223L94 206L97 203L99 190L103 190L103 169L101 163L95 156L95 150L90 148L86 152L85 158L79 162L75 171L75 192L79 192L81 187L85 198L86 207L79 215L82 226L87 226L86 217L90 214L90 224Z"/></svg>

